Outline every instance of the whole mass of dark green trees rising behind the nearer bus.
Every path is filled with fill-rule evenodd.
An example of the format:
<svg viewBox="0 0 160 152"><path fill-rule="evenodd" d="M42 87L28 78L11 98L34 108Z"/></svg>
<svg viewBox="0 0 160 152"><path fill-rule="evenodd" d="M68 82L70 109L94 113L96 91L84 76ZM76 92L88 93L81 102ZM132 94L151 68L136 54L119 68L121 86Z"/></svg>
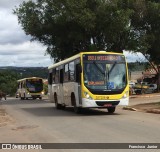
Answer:
<svg viewBox="0 0 160 152"><path fill-rule="evenodd" d="M13 13L55 62L82 51L128 50L141 52L160 77L159 0L35 0Z"/></svg>

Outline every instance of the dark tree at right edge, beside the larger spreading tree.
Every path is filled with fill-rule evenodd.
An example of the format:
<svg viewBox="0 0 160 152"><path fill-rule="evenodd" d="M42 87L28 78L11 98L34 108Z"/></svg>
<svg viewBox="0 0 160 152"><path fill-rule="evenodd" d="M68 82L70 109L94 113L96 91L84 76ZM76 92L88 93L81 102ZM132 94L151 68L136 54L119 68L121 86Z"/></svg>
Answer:
<svg viewBox="0 0 160 152"><path fill-rule="evenodd" d="M157 84L160 81L160 1L139 0L132 2L134 15L132 26L136 33L138 47L152 68L157 71Z"/></svg>

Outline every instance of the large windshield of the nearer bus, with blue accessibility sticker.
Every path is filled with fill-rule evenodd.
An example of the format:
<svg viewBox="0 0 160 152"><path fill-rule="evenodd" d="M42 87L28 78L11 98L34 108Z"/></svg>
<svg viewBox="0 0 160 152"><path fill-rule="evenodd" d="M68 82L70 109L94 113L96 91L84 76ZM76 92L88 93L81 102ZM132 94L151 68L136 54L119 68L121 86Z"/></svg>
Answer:
<svg viewBox="0 0 160 152"><path fill-rule="evenodd" d="M126 87L126 63L123 55L83 56L84 85L89 90L117 91Z"/></svg>

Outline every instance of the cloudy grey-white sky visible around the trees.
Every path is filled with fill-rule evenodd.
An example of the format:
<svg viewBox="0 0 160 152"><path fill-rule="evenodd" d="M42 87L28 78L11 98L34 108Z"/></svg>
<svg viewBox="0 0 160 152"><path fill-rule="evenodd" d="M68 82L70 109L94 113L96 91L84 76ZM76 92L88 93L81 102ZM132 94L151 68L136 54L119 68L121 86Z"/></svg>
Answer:
<svg viewBox="0 0 160 152"><path fill-rule="evenodd" d="M24 33L13 14L13 9L23 1L0 0L0 66L48 67L53 59L46 55L46 46L37 41L31 42L31 37ZM124 54L129 62L143 58L140 53L124 51Z"/></svg>

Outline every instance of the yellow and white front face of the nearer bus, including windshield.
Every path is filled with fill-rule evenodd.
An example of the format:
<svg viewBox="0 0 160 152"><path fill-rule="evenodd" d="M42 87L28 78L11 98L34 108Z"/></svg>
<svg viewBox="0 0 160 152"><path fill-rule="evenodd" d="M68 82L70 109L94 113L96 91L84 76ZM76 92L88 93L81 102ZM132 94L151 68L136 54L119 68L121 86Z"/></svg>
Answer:
<svg viewBox="0 0 160 152"><path fill-rule="evenodd" d="M83 54L82 67L83 107L128 105L128 74L123 55Z"/></svg>

